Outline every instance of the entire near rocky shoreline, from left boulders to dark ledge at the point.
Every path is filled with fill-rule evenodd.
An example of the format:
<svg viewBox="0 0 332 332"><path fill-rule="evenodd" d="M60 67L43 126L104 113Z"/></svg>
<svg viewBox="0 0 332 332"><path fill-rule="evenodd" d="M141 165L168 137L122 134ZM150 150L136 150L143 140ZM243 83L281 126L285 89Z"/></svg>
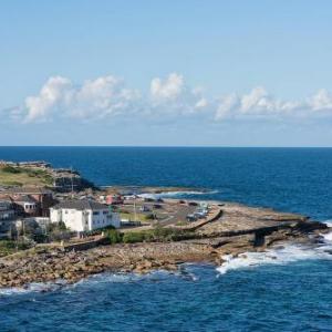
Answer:
<svg viewBox="0 0 332 332"><path fill-rule="evenodd" d="M214 231L211 232L211 227ZM204 238L177 242L107 245L85 251L35 247L0 260L0 288L25 287L31 282L65 280L77 282L104 271L147 273L155 269L177 270L183 262L221 264L225 255L263 251L280 243L313 243L329 231L321 222L297 220L279 227L222 236L209 225ZM209 231L208 231L209 230ZM263 240L261 240L263 238Z"/></svg>

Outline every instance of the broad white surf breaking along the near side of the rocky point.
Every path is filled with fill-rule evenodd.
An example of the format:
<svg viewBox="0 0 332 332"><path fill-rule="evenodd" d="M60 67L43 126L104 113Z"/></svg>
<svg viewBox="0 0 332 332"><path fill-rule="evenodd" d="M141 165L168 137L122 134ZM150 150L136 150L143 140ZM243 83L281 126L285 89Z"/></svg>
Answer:
<svg viewBox="0 0 332 332"><path fill-rule="evenodd" d="M225 274L230 270L250 269L262 264L287 264L300 260L332 260L332 231L322 235L319 245L284 245L264 252L245 252L237 257L224 256L225 262L217 268Z"/></svg>

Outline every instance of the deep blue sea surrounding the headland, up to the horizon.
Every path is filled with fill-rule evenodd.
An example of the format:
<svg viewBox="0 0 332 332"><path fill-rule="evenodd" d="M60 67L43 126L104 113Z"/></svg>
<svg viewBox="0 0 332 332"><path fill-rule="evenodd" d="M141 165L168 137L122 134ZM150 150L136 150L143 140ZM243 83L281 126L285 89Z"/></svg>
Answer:
<svg viewBox="0 0 332 332"><path fill-rule="evenodd" d="M212 194L200 198L332 219L332 148L0 147L0 159L72 166L98 185L206 188ZM292 255L224 274L186 266L3 291L0 331L332 331L331 255Z"/></svg>

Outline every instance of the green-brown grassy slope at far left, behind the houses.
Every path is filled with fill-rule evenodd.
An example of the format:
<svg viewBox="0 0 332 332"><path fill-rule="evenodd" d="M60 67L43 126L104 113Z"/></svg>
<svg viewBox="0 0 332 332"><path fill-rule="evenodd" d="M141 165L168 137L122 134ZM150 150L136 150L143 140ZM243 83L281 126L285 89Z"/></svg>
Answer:
<svg viewBox="0 0 332 332"><path fill-rule="evenodd" d="M4 186L51 186L52 177L42 169L0 167L0 185Z"/></svg>

